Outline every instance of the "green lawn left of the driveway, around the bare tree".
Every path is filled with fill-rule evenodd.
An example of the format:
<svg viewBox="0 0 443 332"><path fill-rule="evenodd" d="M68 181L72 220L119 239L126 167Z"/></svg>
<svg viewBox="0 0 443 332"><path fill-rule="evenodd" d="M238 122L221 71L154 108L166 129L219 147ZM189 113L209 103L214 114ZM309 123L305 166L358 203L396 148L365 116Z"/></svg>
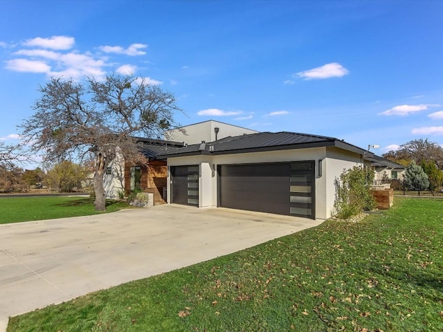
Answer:
<svg viewBox="0 0 443 332"><path fill-rule="evenodd" d="M107 200L106 212L127 207L127 203ZM0 198L0 223L19 223L68 216L100 214L94 210L93 199L66 196Z"/></svg>

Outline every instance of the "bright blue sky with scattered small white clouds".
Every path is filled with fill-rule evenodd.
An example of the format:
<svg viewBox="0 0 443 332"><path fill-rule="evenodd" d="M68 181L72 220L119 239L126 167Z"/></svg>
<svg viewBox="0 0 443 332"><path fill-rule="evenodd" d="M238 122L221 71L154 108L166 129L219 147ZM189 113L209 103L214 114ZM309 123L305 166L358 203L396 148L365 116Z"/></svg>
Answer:
<svg viewBox="0 0 443 332"><path fill-rule="evenodd" d="M127 73L183 124L443 145L443 1L0 0L0 140L39 84Z"/></svg>

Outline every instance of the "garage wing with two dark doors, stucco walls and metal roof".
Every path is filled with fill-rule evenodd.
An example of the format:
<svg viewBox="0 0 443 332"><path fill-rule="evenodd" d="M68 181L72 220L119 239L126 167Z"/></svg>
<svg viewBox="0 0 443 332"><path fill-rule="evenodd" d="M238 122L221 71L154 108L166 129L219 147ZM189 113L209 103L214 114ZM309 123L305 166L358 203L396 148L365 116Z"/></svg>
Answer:
<svg viewBox="0 0 443 332"><path fill-rule="evenodd" d="M168 203L311 219L334 214L334 181L365 150L304 133L250 133L189 145L168 159Z"/></svg>

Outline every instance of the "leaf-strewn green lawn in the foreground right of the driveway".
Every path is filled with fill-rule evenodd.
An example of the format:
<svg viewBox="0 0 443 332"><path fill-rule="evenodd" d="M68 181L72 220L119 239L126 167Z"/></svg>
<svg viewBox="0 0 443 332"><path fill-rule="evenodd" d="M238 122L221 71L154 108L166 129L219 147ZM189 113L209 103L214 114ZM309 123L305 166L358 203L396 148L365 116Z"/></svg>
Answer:
<svg viewBox="0 0 443 332"><path fill-rule="evenodd" d="M12 317L7 331L443 331L442 204L396 198L358 223Z"/></svg>

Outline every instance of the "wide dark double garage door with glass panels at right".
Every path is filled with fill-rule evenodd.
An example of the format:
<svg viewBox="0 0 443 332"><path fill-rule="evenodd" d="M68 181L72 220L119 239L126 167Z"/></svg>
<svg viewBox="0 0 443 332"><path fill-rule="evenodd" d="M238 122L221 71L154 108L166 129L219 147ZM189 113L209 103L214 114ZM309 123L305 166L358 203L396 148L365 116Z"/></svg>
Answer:
<svg viewBox="0 0 443 332"><path fill-rule="evenodd" d="M219 165L224 208L315 218L314 162Z"/></svg>

